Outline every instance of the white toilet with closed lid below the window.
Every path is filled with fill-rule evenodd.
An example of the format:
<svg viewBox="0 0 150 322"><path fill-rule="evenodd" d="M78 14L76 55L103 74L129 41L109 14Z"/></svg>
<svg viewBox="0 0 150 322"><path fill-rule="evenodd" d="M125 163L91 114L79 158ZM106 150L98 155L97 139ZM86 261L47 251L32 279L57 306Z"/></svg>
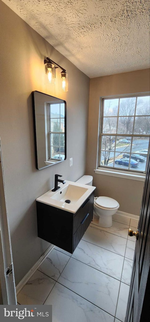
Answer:
<svg viewBox="0 0 150 322"><path fill-rule="evenodd" d="M92 185L93 176L83 175L76 182L84 185ZM119 208L119 203L110 197L96 197L94 198L94 211L99 217L98 226L109 228L112 226L112 215L114 215Z"/></svg>

